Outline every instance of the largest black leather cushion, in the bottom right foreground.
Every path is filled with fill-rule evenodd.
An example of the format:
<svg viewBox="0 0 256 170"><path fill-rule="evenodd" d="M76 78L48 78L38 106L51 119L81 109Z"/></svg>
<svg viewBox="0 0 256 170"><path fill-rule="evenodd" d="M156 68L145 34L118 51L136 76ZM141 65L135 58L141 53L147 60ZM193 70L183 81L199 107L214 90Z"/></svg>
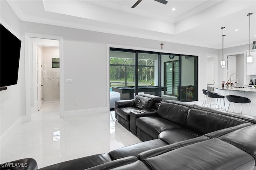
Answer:
<svg viewBox="0 0 256 170"><path fill-rule="evenodd" d="M250 154L219 139L210 139L146 158L151 170L252 170Z"/></svg>

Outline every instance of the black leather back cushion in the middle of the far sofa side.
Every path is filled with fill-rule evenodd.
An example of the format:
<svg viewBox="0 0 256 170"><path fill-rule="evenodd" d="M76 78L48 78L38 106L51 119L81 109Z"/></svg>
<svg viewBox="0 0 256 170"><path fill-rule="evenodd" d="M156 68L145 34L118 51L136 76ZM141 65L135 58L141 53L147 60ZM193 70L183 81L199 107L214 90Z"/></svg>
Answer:
<svg viewBox="0 0 256 170"><path fill-rule="evenodd" d="M179 125L184 126L189 108L172 103L160 103L157 113L164 119L173 121Z"/></svg>

